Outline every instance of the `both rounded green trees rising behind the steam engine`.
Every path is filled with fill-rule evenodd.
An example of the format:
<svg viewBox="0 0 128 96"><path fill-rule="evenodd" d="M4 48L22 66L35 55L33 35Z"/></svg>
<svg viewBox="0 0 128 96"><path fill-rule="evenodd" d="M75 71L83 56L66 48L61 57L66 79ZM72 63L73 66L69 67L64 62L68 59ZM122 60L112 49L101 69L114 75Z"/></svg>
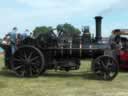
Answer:
<svg viewBox="0 0 128 96"><path fill-rule="evenodd" d="M33 36L38 37L40 34L46 34L50 31L52 31L54 28L51 26L40 26L36 27L33 31ZM55 28L57 30L57 34L60 35L63 33L63 36L65 37L75 37L80 36L80 30L76 27L74 27L71 24L65 23L65 24L59 24Z"/></svg>

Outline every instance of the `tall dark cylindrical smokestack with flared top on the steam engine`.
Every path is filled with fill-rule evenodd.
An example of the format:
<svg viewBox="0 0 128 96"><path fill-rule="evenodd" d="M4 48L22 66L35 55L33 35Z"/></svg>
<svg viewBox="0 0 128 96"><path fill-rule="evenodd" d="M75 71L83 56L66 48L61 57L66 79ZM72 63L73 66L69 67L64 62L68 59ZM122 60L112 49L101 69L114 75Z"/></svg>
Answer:
<svg viewBox="0 0 128 96"><path fill-rule="evenodd" d="M101 16L96 16L95 20L96 20L96 41L99 41L102 39L101 36L101 24L102 24L102 18Z"/></svg>

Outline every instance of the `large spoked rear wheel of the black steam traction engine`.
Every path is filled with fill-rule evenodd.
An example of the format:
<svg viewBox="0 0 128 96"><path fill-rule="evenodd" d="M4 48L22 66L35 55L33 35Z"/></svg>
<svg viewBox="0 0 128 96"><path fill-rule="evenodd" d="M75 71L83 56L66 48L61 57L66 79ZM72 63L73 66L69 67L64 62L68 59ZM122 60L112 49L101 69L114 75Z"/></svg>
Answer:
<svg viewBox="0 0 128 96"><path fill-rule="evenodd" d="M20 77L38 76L43 70L42 53L35 47L19 48L12 58L12 70Z"/></svg>

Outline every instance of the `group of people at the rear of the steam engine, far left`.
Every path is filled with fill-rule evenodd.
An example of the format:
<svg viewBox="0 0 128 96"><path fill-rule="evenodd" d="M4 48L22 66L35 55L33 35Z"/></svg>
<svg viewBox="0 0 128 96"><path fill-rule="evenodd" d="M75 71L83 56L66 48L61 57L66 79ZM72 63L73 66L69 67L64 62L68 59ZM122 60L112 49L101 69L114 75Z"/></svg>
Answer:
<svg viewBox="0 0 128 96"><path fill-rule="evenodd" d="M19 47L21 41L23 41L29 35L29 30L26 29L22 33L18 33L17 27L14 27L11 32L7 33L2 40L3 45L11 47L11 53Z"/></svg>

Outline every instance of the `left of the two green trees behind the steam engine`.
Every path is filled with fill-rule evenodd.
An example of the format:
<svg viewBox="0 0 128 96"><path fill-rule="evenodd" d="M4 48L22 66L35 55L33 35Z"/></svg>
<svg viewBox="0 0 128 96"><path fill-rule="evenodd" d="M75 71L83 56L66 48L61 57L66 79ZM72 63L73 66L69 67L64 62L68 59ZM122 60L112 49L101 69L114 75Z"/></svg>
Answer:
<svg viewBox="0 0 128 96"><path fill-rule="evenodd" d="M39 35L46 34L46 33L50 32L51 30L52 30L51 26L49 26L49 27L47 27L47 26L36 27L33 31L33 36L35 38L37 38Z"/></svg>

